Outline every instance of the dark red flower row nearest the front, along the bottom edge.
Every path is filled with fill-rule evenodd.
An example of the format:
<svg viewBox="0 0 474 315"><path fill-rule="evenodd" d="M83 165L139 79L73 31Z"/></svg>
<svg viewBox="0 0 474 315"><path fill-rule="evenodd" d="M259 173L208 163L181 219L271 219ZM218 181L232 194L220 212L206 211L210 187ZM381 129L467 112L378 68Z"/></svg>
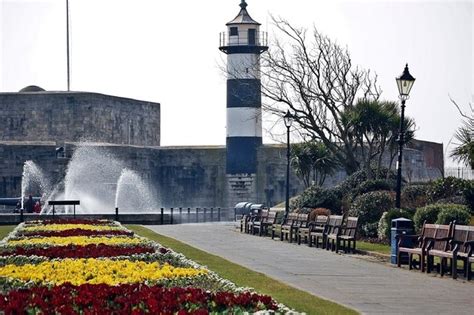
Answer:
<svg viewBox="0 0 474 315"><path fill-rule="evenodd" d="M255 293L206 292L199 288L163 288L146 285L69 284L52 288L35 287L0 295L0 309L6 314L25 310L28 314L236 314L243 310L276 309L268 296Z"/></svg>

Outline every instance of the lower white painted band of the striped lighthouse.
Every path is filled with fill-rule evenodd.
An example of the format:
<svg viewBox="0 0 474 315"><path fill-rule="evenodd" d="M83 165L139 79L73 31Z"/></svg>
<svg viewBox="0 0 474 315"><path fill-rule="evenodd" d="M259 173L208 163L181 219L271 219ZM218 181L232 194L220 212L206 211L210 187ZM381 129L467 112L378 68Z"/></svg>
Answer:
<svg viewBox="0 0 474 315"><path fill-rule="evenodd" d="M261 137L262 110L255 107L227 108L227 137Z"/></svg>

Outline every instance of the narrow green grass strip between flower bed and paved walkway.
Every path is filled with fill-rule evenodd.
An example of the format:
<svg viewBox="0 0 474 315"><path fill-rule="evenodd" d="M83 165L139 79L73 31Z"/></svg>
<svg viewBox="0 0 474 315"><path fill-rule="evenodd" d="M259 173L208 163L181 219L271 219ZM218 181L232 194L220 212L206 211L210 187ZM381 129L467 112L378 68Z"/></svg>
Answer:
<svg viewBox="0 0 474 315"><path fill-rule="evenodd" d="M199 264L207 266L221 277L236 283L238 286L252 287L257 292L270 295L277 301L300 312L306 312L307 314L358 314L354 310L295 289L262 273L211 255L173 238L154 233L145 227L127 225L127 228L163 246L172 248L174 251L184 254Z"/></svg>

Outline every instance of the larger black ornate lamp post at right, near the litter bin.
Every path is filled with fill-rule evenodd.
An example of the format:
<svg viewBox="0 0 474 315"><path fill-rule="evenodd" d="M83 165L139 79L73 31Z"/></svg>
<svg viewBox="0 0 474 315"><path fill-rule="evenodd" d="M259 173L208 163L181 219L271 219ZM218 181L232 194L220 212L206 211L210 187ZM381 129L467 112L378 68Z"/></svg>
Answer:
<svg viewBox="0 0 474 315"><path fill-rule="evenodd" d="M408 64L405 66L405 70L401 76L396 78L398 92L400 93L400 100L402 101L402 108L400 114L400 128L398 133L398 162L397 162L397 197L395 200L395 206L400 208L400 196L402 191L402 154L403 145L405 144L405 131L403 130L404 119L405 119L405 101L408 99L410 90L415 83L415 78L408 71Z"/></svg>

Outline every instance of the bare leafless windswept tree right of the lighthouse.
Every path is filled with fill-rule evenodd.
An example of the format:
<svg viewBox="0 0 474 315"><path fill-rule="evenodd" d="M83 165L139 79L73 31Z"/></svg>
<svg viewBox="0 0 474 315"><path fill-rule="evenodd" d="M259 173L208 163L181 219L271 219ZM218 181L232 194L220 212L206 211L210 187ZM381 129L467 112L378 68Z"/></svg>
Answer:
<svg viewBox="0 0 474 315"><path fill-rule="evenodd" d="M272 17L284 42L277 40L262 55L264 109L282 116L288 109L299 131L321 141L348 174L360 167L359 144L341 115L357 99L377 100L377 76L354 66L347 49L316 28L311 36L281 18Z"/></svg>

